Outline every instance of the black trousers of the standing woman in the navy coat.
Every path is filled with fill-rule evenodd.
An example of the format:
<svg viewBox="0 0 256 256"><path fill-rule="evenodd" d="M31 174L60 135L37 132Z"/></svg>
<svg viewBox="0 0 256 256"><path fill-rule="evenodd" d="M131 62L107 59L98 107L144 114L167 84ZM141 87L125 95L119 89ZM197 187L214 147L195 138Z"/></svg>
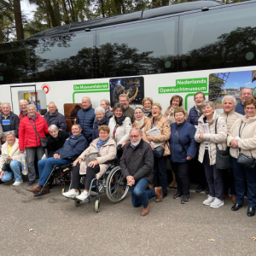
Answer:
<svg viewBox="0 0 256 256"><path fill-rule="evenodd" d="M172 162L172 169L175 172L177 191L182 192L183 195L189 195L189 166L190 162L174 163Z"/></svg>

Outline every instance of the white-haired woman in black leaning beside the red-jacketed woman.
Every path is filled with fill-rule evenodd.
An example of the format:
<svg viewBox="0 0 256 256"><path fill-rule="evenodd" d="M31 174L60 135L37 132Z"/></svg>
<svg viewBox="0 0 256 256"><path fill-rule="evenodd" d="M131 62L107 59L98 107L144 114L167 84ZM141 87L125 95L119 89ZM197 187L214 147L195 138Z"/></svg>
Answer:
<svg viewBox="0 0 256 256"><path fill-rule="evenodd" d="M49 125L49 137L47 138L48 158L53 157L55 151L64 145L68 137L67 131L59 130L56 125Z"/></svg>

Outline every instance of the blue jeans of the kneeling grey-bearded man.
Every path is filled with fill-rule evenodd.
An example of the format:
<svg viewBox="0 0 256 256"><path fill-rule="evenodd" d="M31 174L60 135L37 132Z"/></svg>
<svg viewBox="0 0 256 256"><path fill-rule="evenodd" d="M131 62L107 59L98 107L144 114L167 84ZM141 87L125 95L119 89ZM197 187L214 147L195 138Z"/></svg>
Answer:
<svg viewBox="0 0 256 256"><path fill-rule="evenodd" d="M140 207L143 205L143 208L147 208L149 200L155 197L154 189L148 189L145 191L145 189L148 187L148 184L148 179L143 177L139 180L134 189L129 189L133 207Z"/></svg>

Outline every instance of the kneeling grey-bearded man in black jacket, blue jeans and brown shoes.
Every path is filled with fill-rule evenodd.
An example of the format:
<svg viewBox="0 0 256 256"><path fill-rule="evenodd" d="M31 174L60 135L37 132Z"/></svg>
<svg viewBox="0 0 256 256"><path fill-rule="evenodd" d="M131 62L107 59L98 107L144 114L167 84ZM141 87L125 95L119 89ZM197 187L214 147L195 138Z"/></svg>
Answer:
<svg viewBox="0 0 256 256"><path fill-rule="evenodd" d="M132 128L130 131L131 143L126 143L120 160L120 167L130 186L131 203L133 207L143 205L142 216L149 212L149 200L156 197L162 200L162 188L145 190L153 181L154 155L152 148L142 139L141 131Z"/></svg>

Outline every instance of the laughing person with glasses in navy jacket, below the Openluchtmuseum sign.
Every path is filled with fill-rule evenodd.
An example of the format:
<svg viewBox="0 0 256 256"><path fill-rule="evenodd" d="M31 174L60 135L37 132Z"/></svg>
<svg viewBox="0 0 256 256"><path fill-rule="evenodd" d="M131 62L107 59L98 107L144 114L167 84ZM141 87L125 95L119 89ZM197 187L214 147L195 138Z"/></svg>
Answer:
<svg viewBox="0 0 256 256"><path fill-rule="evenodd" d="M197 129L198 125L198 119L200 119L202 115L201 111L201 104L206 100L206 96L203 92L196 92L194 96L195 106L190 109L189 111L189 118L187 119L187 122L191 125L195 126L195 129ZM205 189L206 194L209 193L208 184L207 184L207 177L205 173L204 166L201 164L201 162L198 160L198 153L199 149L197 150L197 154L195 156L195 160L193 160L193 169L197 172L197 179L199 181L198 187L195 189L195 192L200 193L203 189Z"/></svg>

